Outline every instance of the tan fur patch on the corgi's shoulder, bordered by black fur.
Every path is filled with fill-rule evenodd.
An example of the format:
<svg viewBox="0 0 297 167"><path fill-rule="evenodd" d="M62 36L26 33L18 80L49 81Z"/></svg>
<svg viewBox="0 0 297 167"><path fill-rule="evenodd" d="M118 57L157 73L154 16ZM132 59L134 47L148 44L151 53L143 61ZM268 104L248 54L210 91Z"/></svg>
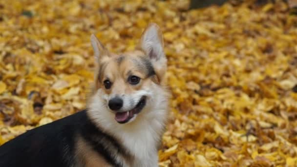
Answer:
<svg viewBox="0 0 297 167"><path fill-rule="evenodd" d="M76 153L78 159L81 160L79 164L84 167L111 167L111 165L106 163L104 158L88 146L81 137L79 137L77 142Z"/></svg>

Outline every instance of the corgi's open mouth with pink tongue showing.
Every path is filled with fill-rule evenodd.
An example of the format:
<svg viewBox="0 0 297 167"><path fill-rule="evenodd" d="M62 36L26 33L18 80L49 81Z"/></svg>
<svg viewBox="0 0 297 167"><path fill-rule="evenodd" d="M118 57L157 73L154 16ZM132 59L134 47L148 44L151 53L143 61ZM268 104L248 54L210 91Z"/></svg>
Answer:
<svg viewBox="0 0 297 167"><path fill-rule="evenodd" d="M126 112L117 112L115 114L115 120L120 124L127 123L128 121L130 121L130 119L134 117L135 114L140 113L140 111L146 105L146 101L147 101L146 97L143 96L133 109Z"/></svg>

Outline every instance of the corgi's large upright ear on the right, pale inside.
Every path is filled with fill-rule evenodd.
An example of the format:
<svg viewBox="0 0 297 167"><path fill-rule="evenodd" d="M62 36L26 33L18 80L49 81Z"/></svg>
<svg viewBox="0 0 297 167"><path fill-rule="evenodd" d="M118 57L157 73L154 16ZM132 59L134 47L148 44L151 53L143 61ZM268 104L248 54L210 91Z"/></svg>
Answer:
<svg viewBox="0 0 297 167"><path fill-rule="evenodd" d="M164 54L163 37L160 27L156 23L150 23L141 36L138 46L151 60L159 83L163 83L167 70L167 59Z"/></svg>

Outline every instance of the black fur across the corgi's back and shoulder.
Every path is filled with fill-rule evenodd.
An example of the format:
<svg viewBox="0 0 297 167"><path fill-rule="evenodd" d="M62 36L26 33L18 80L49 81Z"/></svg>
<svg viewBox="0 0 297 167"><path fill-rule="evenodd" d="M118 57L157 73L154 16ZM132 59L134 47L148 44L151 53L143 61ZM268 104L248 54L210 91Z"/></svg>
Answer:
<svg viewBox="0 0 297 167"><path fill-rule="evenodd" d="M75 156L78 136L84 137L98 155L115 167L121 167L121 164L115 161L106 146L129 157L125 148L92 124L83 110L29 130L0 146L0 167L72 167L78 162ZM107 141L108 145L102 141Z"/></svg>

